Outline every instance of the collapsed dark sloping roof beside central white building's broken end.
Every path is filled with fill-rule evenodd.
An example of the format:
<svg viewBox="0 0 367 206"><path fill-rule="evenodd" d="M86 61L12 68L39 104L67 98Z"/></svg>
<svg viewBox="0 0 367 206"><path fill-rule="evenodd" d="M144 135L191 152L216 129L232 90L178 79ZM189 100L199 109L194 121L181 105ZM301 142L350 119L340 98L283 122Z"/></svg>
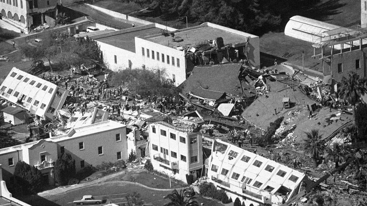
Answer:
<svg viewBox="0 0 367 206"><path fill-rule="evenodd" d="M241 95L241 66L242 63L195 66L192 74L181 84L183 93L201 88L226 92L229 95Z"/></svg>

